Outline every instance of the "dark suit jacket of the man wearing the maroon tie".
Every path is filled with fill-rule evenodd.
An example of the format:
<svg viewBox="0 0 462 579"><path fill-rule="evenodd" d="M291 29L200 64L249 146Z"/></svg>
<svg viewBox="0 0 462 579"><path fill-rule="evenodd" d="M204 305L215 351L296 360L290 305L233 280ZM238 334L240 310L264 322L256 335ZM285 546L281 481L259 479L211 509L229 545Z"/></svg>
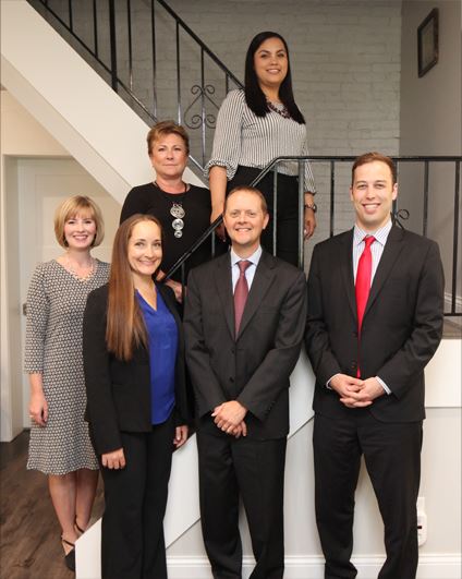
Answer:
<svg viewBox="0 0 462 579"><path fill-rule="evenodd" d="M250 437L288 434L289 376L303 340L305 293L303 272L264 251L235 337L230 254L191 272L184 331L199 427L219 434L210 412L239 400L248 410Z"/></svg>

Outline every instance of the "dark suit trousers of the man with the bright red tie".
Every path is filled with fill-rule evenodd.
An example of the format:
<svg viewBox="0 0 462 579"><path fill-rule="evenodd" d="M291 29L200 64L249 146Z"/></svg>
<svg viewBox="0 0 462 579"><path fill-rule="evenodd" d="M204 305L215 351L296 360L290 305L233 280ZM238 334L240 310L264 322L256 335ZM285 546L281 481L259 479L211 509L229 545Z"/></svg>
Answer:
<svg viewBox="0 0 462 579"><path fill-rule="evenodd" d="M313 432L316 522L326 579L352 579L354 492L361 456L385 524L387 558L378 579L414 579L418 563L416 502L422 422L386 423L367 409L351 418L316 414Z"/></svg>

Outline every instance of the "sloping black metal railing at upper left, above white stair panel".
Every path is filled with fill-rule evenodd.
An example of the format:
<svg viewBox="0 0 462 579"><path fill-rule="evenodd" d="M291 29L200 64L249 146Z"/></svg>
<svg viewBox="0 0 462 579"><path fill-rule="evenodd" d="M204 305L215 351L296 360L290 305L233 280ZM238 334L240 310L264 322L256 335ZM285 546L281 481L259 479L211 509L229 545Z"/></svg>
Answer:
<svg viewBox="0 0 462 579"><path fill-rule="evenodd" d="M242 83L163 0L28 2L147 124L183 124L203 170L219 106Z"/></svg>

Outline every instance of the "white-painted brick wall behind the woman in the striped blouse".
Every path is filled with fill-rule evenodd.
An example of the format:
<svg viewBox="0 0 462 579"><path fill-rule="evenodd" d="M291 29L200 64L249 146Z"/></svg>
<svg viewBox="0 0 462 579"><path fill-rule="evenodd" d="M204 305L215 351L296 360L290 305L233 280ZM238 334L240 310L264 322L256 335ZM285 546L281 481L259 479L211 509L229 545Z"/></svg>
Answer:
<svg viewBox="0 0 462 579"><path fill-rule="evenodd" d="M63 0L56 0L63 2ZM139 98L153 105L149 2L132 0L133 86ZM62 5L65 5L62 4ZM98 3L100 23L107 20L105 3ZM260 31L282 34L291 51L296 102L308 122L313 155L356 155L376 149L399 152L401 0L169 0L169 5L240 79L252 37ZM82 5L80 10L82 10ZM126 4L117 2L119 74L129 83ZM106 11L106 14L105 14ZM159 119L178 118L175 36L172 19L156 8L156 89ZM92 34L84 19L74 15L75 26ZM100 52L108 60L107 36L100 32ZM199 51L181 35L183 122L200 112L200 102L186 113L195 98L191 87L200 84ZM224 77L205 59L206 83L215 87L211 98L219 105ZM233 86L231 86L233 88ZM207 104L208 113L216 108ZM200 156L200 130L189 129L192 150ZM209 157L214 130L206 130L205 160ZM329 179L326 166L315 167L319 191L316 240L328 234ZM336 174L336 231L351 226L348 197L349 170ZM309 243L308 248L313 244Z"/></svg>

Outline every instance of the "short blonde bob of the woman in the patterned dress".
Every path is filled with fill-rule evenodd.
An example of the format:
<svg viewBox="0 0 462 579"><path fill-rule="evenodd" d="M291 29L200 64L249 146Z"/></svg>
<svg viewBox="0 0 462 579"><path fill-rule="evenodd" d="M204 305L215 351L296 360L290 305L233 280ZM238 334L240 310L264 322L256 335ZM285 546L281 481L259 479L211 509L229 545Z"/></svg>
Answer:
<svg viewBox="0 0 462 579"><path fill-rule="evenodd" d="M54 213L54 236L62 248L68 246L64 236L65 221L82 214L87 215L96 225L96 234L92 246L96 248L105 238L105 221L102 220L101 209L89 197L74 195L64 200Z"/></svg>

